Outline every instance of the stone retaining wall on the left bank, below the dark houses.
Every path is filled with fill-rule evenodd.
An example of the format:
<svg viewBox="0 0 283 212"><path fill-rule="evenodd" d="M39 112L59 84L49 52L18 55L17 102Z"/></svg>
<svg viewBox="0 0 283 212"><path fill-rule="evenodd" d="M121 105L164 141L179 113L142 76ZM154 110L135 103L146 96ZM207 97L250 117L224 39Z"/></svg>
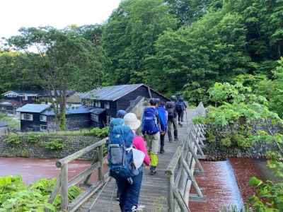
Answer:
<svg viewBox="0 0 283 212"><path fill-rule="evenodd" d="M64 148L61 151L50 151L45 148L45 143L54 139L62 139ZM64 158L72 153L85 148L100 139L93 136L42 136L37 143L28 143L23 137L18 145L11 145L0 136L0 157L23 157L23 158ZM83 158L90 159L96 156L96 151L84 155Z"/></svg>

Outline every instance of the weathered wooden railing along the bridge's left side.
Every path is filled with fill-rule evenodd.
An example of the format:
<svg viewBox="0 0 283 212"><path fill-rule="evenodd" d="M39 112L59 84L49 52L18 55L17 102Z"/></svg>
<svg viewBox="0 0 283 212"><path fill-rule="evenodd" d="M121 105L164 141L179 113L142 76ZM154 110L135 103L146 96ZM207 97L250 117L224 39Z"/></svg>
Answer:
<svg viewBox="0 0 283 212"><path fill-rule="evenodd" d="M78 209L81 204L87 201L88 198L90 198L98 191L98 189L103 187L103 185L108 182L108 172L105 174L103 173L103 162L105 160L105 158L103 157L103 146L105 145L105 142L106 139L98 141L97 143L93 143L91 146L87 146L86 148L83 148L80 151L77 151L76 153L73 153L66 158L62 158L61 160L58 160L56 162L56 166L61 169L61 172L59 174L59 177L57 178L57 184L54 187L54 191L50 196L50 204L53 203L57 194L60 193L62 196L62 211L76 211L76 209ZM83 155L92 153L93 151L96 151L97 157L94 157L93 163L91 163L90 167L80 172L79 175L76 175L75 177L69 179L69 163L71 163L71 161L73 160L81 158L81 156ZM89 179L91 178L93 172L96 171L98 175L98 181L91 184L89 182ZM82 184L86 186L86 190L78 197L76 197L76 199L74 199L74 201L70 204L68 202L68 189L69 187L74 186L75 184L79 184L80 182L82 182Z"/></svg>

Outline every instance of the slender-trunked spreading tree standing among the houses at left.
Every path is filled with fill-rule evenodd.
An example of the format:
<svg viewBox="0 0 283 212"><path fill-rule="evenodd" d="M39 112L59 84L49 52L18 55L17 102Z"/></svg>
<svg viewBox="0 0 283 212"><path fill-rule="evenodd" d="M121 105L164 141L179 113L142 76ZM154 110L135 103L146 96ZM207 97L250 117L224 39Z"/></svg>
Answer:
<svg viewBox="0 0 283 212"><path fill-rule="evenodd" d="M19 31L21 35L11 37L8 43L24 50L33 61L35 81L46 90L54 91L59 106L56 107L57 122L64 130L67 90L98 86L103 77L103 54L93 43L68 28L21 28Z"/></svg>

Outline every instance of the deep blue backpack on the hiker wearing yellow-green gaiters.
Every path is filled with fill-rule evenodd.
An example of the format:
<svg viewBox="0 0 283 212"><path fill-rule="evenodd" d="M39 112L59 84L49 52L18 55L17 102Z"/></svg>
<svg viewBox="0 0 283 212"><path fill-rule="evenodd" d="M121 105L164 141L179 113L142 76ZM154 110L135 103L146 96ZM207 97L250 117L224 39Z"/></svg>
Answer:
<svg viewBox="0 0 283 212"><path fill-rule="evenodd" d="M154 107L146 107L142 117L142 134L153 135L159 131L157 123L158 112Z"/></svg>

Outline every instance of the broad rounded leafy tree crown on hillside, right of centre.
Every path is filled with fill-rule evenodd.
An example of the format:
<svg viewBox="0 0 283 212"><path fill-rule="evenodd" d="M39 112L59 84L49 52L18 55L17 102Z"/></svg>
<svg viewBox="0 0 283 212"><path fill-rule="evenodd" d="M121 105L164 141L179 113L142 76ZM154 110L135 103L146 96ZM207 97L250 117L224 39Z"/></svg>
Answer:
<svg viewBox="0 0 283 212"><path fill-rule="evenodd" d="M237 13L207 13L190 27L168 30L148 57L149 81L158 90L192 92L195 82L205 90L215 81L231 81L246 73L250 58L245 52L246 28ZM198 89L198 88L197 88Z"/></svg>

